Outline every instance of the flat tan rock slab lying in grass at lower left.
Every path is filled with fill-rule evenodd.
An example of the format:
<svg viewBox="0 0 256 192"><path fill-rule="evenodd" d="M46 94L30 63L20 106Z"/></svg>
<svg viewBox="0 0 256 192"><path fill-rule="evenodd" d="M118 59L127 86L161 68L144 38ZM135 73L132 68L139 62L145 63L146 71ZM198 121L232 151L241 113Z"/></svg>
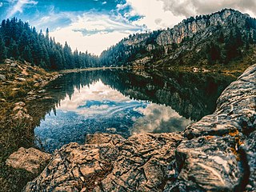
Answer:
<svg viewBox="0 0 256 192"><path fill-rule="evenodd" d="M34 148L19 148L18 151L10 154L6 160L7 166L15 169L23 169L32 174L39 174L44 166L50 161L51 155Z"/></svg>

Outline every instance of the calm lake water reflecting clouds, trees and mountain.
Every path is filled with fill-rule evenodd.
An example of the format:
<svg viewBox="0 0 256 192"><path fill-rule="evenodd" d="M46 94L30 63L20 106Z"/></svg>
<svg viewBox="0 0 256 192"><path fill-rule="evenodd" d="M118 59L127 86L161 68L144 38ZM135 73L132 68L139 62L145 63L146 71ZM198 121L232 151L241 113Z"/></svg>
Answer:
<svg viewBox="0 0 256 192"><path fill-rule="evenodd" d="M52 152L69 142L82 144L86 134L95 132L127 138L182 131L213 113L218 96L232 81L221 74L174 71L66 74L46 87L49 99L42 106L48 106L48 114L34 129L36 143Z"/></svg>

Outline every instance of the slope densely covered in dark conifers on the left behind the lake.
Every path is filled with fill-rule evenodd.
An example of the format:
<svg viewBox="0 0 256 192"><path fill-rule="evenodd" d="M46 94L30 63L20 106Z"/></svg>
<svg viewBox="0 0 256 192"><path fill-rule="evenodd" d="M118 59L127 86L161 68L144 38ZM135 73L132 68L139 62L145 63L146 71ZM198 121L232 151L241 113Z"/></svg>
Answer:
<svg viewBox="0 0 256 192"><path fill-rule="evenodd" d="M42 30L38 33L28 22L17 18L3 20L0 26L0 62L5 58L25 60L49 70L99 66L98 57L78 53L65 43L62 46Z"/></svg>

